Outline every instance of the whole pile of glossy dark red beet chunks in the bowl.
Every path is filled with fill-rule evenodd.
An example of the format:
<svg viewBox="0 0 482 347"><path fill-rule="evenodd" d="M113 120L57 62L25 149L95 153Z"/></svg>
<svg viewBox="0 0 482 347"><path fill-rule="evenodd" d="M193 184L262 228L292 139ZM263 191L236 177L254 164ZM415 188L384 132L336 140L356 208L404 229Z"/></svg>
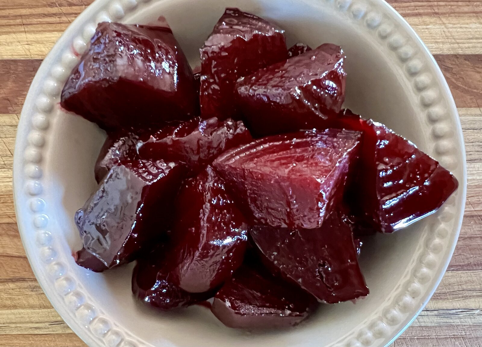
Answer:
<svg viewBox="0 0 482 347"><path fill-rule="evenodd" d="M100 23L61 106L107 131L75 214L77 263L137 260L132 290L169 310L214 297L225 325L295 325L369 291L360 237L436 211L455 177L385 125L342 109L342 49L287 49L227 9L194 74L168 27Z"/></svg>

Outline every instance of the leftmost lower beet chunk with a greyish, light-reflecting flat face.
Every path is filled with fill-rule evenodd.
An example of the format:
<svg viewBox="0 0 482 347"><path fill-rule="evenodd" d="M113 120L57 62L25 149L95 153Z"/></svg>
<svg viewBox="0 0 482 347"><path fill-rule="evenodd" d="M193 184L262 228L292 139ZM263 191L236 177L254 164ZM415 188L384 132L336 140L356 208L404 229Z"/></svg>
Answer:
<svg viewBox="0 0 482 347"><path fill-rule="evenodd" d="M84 248L106 267L128 263L170 228L184 174L174 162L126 161L113 166L75 214Z"/></svg>

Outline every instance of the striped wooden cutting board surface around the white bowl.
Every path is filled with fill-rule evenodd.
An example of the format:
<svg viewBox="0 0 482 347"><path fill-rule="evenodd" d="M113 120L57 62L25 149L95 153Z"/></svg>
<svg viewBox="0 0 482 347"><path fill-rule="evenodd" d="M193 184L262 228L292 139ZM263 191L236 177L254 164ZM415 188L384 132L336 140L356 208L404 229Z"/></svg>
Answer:
<svg viewBox="0 0 482 347"><path fill-rule="evenodd" d="M40 62L92 0L0 0L0 347L77 347L43 294L18 234L15 132ZM455 254L426 309L395 347L482 347L482 1L390 0L434 54L458 107L469 186Z"/></svg>

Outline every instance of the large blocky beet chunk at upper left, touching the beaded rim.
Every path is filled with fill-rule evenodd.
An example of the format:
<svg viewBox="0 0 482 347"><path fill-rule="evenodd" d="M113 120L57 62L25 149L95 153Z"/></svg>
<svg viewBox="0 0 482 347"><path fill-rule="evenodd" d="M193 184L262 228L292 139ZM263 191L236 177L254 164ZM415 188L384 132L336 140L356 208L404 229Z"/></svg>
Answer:
<svg viewBox="0 0 482 347"><path fill-rule="evenodd" d="M68 78L61 106L113 130L189 119L199 99L170 29L104 22Z"/></svg>

